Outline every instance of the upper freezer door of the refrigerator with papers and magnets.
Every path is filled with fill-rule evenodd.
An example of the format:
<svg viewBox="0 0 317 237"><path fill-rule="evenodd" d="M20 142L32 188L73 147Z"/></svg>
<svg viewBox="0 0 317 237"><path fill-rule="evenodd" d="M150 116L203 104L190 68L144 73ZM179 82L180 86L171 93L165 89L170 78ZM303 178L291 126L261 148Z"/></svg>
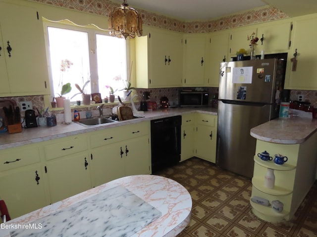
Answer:
<svg viewBox="0 0 317 237"><path fill-rule="evenodd" d="M220 64L219 99L275 102L277 59ZM281 87L282 88L282 87Z"/></svg>

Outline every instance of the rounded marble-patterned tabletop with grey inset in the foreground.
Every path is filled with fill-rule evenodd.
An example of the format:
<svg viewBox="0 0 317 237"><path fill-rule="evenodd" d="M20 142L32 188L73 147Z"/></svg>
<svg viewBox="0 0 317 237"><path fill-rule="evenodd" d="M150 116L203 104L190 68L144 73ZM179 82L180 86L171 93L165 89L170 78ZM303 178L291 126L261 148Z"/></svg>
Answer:
<svg viewBox="0 0 317 237"><path fill-rule="evenodd" d="M127 176L8 221L0 236L175 237L191 209L190 194L176 181ZM41 229L22 229L29 224Z"/></svg>

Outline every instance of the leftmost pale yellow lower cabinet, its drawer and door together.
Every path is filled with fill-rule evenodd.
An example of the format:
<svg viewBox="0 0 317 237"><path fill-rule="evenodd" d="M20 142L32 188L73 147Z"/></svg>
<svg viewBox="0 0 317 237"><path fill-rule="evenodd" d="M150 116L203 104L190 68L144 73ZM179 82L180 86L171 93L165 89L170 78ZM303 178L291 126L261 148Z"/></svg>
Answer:
<svg viewBox="0 0 317 237"><path fill-rule="evenodd" d="M38 146L0 151L0 198L11 218L47 205L45 174Z"/></svg>

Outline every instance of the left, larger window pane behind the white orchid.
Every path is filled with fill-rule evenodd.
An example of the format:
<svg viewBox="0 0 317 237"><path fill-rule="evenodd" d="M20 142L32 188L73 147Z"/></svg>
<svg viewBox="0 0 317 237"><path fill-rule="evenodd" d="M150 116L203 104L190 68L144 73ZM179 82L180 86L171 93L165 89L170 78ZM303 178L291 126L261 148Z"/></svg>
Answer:
<svg viewBox="0 0 317 237"><path fill-rule="evenodd" d="M58 96L62 84L71 83L72 90L65 97L70 98L90 79L88 33L48 27L51 67L53 76L54 95ZM85 87L86 93L91 93L90 84ZM82 100L81 95L72 101Z"/></svg>

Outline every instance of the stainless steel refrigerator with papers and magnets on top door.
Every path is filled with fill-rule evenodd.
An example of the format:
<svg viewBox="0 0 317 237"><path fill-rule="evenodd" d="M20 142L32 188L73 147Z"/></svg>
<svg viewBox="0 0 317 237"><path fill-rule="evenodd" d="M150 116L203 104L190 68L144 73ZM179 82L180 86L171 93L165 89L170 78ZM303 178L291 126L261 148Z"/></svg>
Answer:
<svg viewBox="0 0 317 237"><path fill-rule="evenodd" d="M251 128L278 117L286 62L278 59L220 64L216 164L253 176L256 139Z"/></svg>

